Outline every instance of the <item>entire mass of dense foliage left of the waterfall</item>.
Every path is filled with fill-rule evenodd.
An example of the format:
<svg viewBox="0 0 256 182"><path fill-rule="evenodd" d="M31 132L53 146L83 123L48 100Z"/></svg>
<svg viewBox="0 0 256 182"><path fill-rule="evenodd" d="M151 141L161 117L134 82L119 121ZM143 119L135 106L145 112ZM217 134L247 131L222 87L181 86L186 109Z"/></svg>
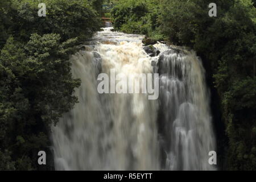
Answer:
<svg viewBox="0 0 256 182"><path fill-rule="evenodd" d="M77 102L69 55L100 28L93 2L44 1L39 17L39 1L1 0L0 170L40 169L51 125Z"/></svg>

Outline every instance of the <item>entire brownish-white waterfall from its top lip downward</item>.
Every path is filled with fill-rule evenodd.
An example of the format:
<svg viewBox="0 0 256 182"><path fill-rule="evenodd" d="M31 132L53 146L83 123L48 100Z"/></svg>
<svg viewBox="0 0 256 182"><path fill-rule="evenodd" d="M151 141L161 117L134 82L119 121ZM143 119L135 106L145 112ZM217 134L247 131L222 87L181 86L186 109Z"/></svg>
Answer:
<svg viewBox="0 0 256 182"><path fill-rule="evenodd" d="M57 170L211 170L215 150L204 68L193 51L155 44L105 28L71 57L79 103L52 127ZM159 73L159 99L98 94L97 76ZM131 77L133 81L135 77Z"/></svg>

